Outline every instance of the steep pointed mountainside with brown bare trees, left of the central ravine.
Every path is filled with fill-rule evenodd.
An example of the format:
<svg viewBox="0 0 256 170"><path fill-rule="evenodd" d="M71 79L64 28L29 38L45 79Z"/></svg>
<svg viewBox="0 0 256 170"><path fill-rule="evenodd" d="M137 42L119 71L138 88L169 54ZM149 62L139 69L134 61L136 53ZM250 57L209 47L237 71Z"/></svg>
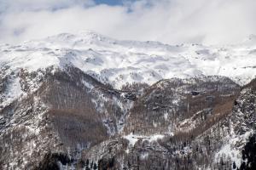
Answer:
<svg viewBox="0 0 256 170"><path fill-rule="evenodd" d="M53 69L21 70L16 76L23 95L0 112L3 169L32 169L49 151L75 159L81 150L108 139L122 127L132 100L77 68ZM30 86L30 80L39 76L34 82L38 88ZM7 80L5 85L9 83Z"/></svg>

